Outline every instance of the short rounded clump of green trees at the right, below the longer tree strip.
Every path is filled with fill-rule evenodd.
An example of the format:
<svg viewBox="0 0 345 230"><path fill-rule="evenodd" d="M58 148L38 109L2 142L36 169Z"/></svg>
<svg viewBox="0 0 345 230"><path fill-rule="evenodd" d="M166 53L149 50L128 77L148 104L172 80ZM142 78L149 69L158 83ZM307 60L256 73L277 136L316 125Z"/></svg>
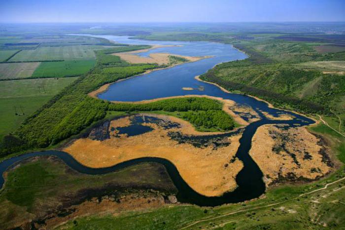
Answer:
<svg viewBox="0 0 345 230"><path fill-rule="evenodd" d="M199 127L220 130L231 130L235 127L233 118L222 110L188 111L182 115L182 118Z"/></svg>

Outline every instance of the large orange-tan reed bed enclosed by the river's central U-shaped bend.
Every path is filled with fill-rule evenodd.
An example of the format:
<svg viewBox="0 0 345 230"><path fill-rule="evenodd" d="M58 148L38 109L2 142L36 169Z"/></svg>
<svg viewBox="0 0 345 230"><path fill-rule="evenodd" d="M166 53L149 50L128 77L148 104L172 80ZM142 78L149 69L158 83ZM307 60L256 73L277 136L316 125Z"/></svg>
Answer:
<svg viewBox="0 0 345 230"><path fill-rule="evenodd" d="M242 169L242 161L237 158L233 163L229 161L237 152L242 134L230 137L231 144L226 147L196 148L171 140L168 131L180 131L178 128L165 130L153 123L145 125L152 126L154 130L130 137L111 136L104 141L82 138L64 151L93 168L108 167L145 156L162 157L171 161L186 183L200 194L217 196L236 188L235 177Z"/></svg>

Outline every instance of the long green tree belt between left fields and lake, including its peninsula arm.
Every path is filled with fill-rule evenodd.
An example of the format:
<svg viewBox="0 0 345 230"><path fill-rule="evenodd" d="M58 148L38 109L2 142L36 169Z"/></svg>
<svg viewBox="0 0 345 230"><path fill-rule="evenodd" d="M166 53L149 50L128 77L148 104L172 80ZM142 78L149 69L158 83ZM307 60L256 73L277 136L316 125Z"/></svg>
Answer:
<svg viewBox="0 0 345 230"><path fill-rule="evenodd" d="M118 46L97 51L97 66L89 74L79 77L47 104L28 117L23 125L11 135L7 135L0 143L2 155L27 149L46 148L69 138L105 117L106 111L188 111L188 110L220 110L221 105L214 100L198 98L195 100L171 99L149 104L111 104L87 96L105 83L130 77L145 72L147 69L159 68L157 65L130 65L114 55L116 52L137 50L147 46ZM61 79L61 78L60 78ZM184 103L181 103L184 101ZM197 103L196 103L197 102ZM202 103L201 103L202 102ZM203 115L198 113L197 115ZM205 126L223 130L217 121L219 114L212 113L212 124ZM224 115L223 115L224 116ZM228 117L228 119L231 119ZM198 126L197 123L195 123ZM202 125L203 126L203 125ZM224 126L230 129L231 125ZM16 143L21 143L18 145Z"/></svg>

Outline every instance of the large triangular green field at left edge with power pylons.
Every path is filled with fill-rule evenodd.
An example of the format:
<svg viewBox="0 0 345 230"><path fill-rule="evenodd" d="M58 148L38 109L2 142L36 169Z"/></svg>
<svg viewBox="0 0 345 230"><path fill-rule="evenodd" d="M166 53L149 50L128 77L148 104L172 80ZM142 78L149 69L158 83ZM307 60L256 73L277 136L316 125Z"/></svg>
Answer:
<svg viewBox="0 0 345 230"><path fill-rule="evenodd" d="M76 77L0 81L0 138L18 128ZM15 114L18 115L15 115Z"/></svg>

